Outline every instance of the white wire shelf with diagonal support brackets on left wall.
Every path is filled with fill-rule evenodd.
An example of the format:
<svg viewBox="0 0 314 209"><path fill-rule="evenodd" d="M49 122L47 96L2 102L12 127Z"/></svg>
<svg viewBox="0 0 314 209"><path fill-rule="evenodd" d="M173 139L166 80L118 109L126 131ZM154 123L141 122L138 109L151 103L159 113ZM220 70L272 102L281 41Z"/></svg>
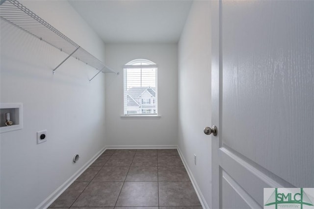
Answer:
<svg viewBox="0 0 314 209"><path fill-rule="evenodd" d="M78 44L58 31L51 24L41 19L35 13L27 9L17 0L0 0L0 17L2 20L17 26L27 33L37 37L39 40L44 41L69 55L52 70L53 74L55 73L55 70L71 56L95 68L96 70L99 70L96 75L100 72L116 73L114 70L107 67L102 61L91 55L82 47L78 46ZM89 81L91 81L95 76L93 76Z"/></svg>

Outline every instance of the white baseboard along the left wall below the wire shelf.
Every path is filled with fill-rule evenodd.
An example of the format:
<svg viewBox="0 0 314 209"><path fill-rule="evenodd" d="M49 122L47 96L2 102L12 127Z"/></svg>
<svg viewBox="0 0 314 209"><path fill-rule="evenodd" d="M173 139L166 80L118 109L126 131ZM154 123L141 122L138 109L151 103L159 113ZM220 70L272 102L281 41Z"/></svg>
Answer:
<svg viewBox="0 0 314 209"><path fill-rule="evenodd" d="M67 181L59 186L51 195L49 195L42 203L35 209L47 209L53 201L55 201L96 159L106 150L106 147L101 149L96 155L85 163L75 174L73 174Z"/></svg>

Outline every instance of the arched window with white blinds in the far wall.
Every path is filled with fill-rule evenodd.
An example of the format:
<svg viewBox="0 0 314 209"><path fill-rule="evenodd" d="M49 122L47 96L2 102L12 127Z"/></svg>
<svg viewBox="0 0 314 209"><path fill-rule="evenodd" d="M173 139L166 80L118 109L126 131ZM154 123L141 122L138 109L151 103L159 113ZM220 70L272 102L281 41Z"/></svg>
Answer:
<svg viewBox="0 0 314 209"><path fill-rule="evenodd" d="M157 115L157 65L150 60L124 66L124 115Z"/></svg>

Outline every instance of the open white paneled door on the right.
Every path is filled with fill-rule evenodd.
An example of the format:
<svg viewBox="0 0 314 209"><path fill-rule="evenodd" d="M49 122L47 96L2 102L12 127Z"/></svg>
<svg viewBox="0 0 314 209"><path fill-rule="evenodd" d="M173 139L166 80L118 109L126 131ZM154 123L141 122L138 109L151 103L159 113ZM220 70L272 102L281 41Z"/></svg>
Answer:
<svg viewBox="0 0 314 209"><path fill-rule="evenodd" d="M314 187L314 1L212 1L212 202Z"/></svg>

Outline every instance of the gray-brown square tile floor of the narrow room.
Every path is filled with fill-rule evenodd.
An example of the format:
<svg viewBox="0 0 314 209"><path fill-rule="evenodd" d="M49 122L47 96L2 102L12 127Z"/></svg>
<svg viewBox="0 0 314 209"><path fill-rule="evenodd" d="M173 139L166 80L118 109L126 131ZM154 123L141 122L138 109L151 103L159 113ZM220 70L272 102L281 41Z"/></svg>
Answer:
<svg viewBox="0 0 314 209"><path fill-rule="evenodd" d="M49 209L202 209L176 149L106 150Z"/></svg>

